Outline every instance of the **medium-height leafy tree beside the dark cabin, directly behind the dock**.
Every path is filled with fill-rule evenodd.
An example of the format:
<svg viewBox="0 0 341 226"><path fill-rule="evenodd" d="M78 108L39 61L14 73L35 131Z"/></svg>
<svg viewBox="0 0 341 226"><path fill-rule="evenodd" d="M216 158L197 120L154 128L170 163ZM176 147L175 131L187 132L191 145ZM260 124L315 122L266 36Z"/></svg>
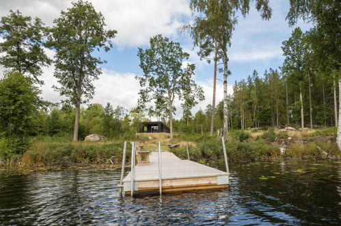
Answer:
<svg viewBox="0 0 341 226"><path fill-rule="evenodd" d="M149 101L157 101L165 97L168 106L169 128L173 138L173 111L174 99L191 101L204 99L202 87L193 80L194 64L182 63L189 59L189 53L182 51L178 42L172 42L161 35L150 38L150 49L141 49L137 53L140 59L139 66L144 76L137 77L142 87L139 91L139 103L145 105ZM187 95L191 93L191 95Z"/></svg>

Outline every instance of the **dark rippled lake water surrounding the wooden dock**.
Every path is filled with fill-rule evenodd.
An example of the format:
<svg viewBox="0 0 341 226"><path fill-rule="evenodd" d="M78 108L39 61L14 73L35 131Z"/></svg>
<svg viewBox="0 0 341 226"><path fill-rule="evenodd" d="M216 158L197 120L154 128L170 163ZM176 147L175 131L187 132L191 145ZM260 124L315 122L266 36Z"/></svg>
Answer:
<svg viewBox="0 0 341 226"><path fill-rule="evenodd" d="M0 225L341 225L341 162L230 171L230 190L120 199L119 169L0 170Z"/></svg>

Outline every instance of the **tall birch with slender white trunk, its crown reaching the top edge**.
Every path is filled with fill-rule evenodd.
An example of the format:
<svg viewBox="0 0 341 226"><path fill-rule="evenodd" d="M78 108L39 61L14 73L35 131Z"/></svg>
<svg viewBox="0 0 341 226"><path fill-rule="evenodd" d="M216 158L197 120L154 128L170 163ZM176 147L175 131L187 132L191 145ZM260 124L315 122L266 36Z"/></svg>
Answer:
<svg viewBox="0 0 341 226"><path fill-rule="evenodd" d="M206 34L215 40L218 51L223 60L223 137L228 139L228 47L231 45L232 31L236 26L236 12L241 10L243 16L249 12L251 1L232 0L191 0L191 9L198 12L196 21L206 29ZM271 17L269 0L255 0L256 9L261 12L262 18Z"/></svg>

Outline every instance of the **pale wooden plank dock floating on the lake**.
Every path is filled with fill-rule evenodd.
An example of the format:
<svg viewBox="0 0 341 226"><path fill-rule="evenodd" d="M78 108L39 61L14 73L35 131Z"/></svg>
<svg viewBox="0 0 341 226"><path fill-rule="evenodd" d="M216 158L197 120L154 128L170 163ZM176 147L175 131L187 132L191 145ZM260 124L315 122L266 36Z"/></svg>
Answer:
<svg viewBox="0 0 341 226"><path fill-rule="evenodd" d="M180 160L173 153L161 152L162 192L227 188L229 173L215 168ZM123 189L131 194L131 172L123 179ZM159 153L150 153L149 164L135 166L134 194L159 192Z"/></svg>

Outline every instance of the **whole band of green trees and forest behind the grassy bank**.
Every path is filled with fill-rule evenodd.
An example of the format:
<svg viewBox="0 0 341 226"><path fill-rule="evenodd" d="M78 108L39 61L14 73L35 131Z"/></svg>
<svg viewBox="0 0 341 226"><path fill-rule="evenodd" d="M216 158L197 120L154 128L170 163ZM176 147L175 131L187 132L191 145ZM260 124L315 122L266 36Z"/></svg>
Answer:
<svg viewBox="0 0 341 226"><path fill-rule="evenodd" d="M251 3L254 3L253 5ZM269 1L191 0L193 24L184 25L198 48L200 59L214 62L213 100L205 109L192 112L204 99L195 82L195 64L179 42L161 34L150 38L146 49L139 48L143 75L136 107L130 110L107 103L91 103L94 81L100 78L105 60L97 51L109 51L118 31L107 29L103 14L88 1L78 0L61 11L47 27L40 18L10 10L0 20L0 154L22 154L34 136L65 136L73 141L89 134L109 138L133 138L141 121L154 118L173 131L204 134L210 131L229 140L230 129L284 127L338 127L341 149L340 8L335 0L290 1L286 16L292 33L282 42L284 62L279 68L254 71L236 81L228 95L228 49L238 24L236 14L255 7L264 20L271 19ZM312 27L304 32L294 27L298 19ZM53 59L46 48L55 52ZM40 97L43 68L53 64L62 103ZM222 64L223 68L217 68ZM215 100L217 73L223 74L223 99ZM175 116L175 99L182 101L183 114ZM220 101L220 102L219 102ZM90 104L89 104L90 103ZM233 133L232 133L233 134ZM232 136L231 136L232 137Z"/></svg>

